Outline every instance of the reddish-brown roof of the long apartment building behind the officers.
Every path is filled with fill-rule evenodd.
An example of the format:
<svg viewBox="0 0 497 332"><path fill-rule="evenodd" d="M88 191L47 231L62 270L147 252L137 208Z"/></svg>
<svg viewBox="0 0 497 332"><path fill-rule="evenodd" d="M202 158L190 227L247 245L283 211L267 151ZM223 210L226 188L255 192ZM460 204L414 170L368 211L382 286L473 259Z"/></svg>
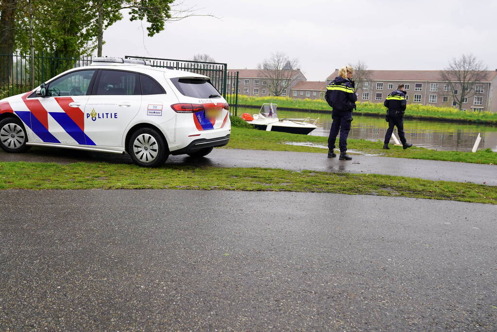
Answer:
<svg viewBox="0 0 497 332"><path fill-rule="evenodd" d="M385 81L441 81L440 72L438 70L372 70L372 80ZM497 71L487 71L487 79L482 82L491 82L497 75ZM328 80L333 80L338 76L338 71L335 70L328 77Z"/></svg>

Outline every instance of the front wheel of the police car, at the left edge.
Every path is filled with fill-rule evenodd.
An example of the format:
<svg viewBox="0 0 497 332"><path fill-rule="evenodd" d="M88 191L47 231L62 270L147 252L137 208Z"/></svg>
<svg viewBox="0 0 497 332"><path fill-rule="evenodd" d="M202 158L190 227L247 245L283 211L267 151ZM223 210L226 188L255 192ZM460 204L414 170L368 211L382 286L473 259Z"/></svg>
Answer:
<svg viewBox="0 0 497 332"><path fill-rule="evenodd" d="M0 121L0 148L6 152L24 152L31 148L26 145L28 137L22 122L16 118Z"/></svg>

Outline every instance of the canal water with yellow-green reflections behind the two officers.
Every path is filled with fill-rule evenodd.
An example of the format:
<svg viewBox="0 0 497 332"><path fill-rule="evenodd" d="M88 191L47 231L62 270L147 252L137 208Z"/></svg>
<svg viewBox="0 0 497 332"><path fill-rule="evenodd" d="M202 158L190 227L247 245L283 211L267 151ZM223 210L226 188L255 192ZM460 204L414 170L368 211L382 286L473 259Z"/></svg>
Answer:
<svg viewBox="0 0 497 332"><path fill-rule="evenodd" d="M238 113L255 114L256 108L239 108ZM388 123L384 117L354 115L349 138L363 139L376 142L385 137ZM306 118L317 119L317 129L311 132L313 136L328 136L331 128L331 114L309 113L298 111L278 110L279 118ZM404 131L406 139L414 146L433 150L471 151L478 133L482 136L479 149L490 148L497 152L497 127L456 122L425 121L405 119ZM399 138L397 129L395 136ZM393 141L391 141L393 143Z"/></svg>

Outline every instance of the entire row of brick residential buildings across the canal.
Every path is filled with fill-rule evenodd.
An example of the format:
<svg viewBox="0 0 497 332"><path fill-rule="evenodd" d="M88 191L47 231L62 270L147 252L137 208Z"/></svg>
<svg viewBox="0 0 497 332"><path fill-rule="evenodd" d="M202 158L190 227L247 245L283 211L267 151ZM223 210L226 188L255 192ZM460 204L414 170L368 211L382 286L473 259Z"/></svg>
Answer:
<svg viewBox="0 0 497 332"><path fill-rule="evenodd" d="M232 69L239 71L238 93L250 96L270 96L270 81L256 69ZM326 86L338 76L335 69L326 81L307 81L300 69L294 70L290 84L283 90L282 96L295 99L322 99ZM432 105L440 107L456 107L453 95L460 95L461 88L452 90L447 82L440 80L440 71L370 71L370 80L365 81L357 89L358 101L382 103L387 94L403 83L407 91L408 103ZM232 92L235 84L229 82L228 92ZM497 112L497 69L487 71L482 82L475 84L470 97L462 100L464 110ZM235 91L233 91L235 92Z"/></svg>

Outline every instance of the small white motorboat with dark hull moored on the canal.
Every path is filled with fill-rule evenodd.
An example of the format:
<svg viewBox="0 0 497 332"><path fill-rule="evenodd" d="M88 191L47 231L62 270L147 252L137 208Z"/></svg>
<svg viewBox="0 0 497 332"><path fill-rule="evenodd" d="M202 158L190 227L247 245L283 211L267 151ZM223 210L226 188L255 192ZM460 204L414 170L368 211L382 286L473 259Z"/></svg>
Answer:
<svg viewBox="0 0 497 332"><path fill-rule="evenodd" d="M307 135L314 129L318 128L316 123L319 118L311 119L310 117L307 117L304 119L280 119L278 118L276 108L277 104L262 104L259 114L254 114L253 117L251 117L249 114L244 113L242 118L256 129L265 131L280 131L285 133Z"/></svg>

